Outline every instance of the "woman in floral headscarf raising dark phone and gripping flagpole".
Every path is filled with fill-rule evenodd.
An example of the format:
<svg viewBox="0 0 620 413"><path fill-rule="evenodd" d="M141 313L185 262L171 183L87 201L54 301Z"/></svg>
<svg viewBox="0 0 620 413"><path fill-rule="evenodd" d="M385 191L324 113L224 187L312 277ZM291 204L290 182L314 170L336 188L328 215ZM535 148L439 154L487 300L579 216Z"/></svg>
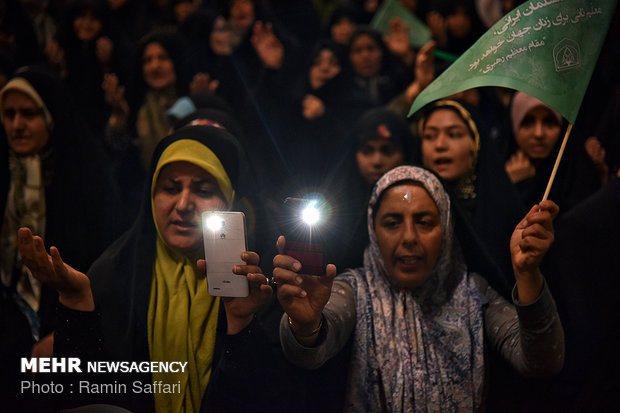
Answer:
<svg viewBox="0 0 620 413"><path fill-rule="evenodd" d="M564 336L538 270L557 213L545 201L517 225L510 304L468 272L439 180L417 167L387 172L369 201L363 268L309 276L292 257L274 259L286 357L315 369L352 336L347 411L479 410L487 349L524 375L557 373Z"/></svg>

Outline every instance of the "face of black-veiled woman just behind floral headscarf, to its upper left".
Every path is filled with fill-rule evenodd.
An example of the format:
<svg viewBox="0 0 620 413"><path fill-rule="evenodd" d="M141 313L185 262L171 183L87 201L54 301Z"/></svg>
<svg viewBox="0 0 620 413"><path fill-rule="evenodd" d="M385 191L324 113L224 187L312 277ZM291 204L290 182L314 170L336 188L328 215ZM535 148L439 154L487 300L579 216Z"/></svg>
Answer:
<svg viewBox="0 0 620 413"><path fill-rule="evenodd" d="M405 155L389 140L371 139L357 150L356 159L360 174L369 185L374 185L381 175L402 165Z"/></svg>

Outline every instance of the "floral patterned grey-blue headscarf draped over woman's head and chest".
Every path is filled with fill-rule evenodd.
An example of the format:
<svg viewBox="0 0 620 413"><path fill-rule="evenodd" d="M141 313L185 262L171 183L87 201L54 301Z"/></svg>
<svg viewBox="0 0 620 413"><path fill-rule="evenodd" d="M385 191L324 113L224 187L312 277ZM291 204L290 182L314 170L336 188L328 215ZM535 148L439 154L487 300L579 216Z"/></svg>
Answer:
<svg viewBox="0 0 620 413"><path fill-rule="evenodd" d="M381 194L399 182L421 184L440 213L441 252L427 281L403 289L390 281L374 231ZM454 238L450 199L439 180L400 166L381 177L368 204L364 267L341 275L356 300L347 393L350 411L476 411L484 381L485 297Z"/></svg>

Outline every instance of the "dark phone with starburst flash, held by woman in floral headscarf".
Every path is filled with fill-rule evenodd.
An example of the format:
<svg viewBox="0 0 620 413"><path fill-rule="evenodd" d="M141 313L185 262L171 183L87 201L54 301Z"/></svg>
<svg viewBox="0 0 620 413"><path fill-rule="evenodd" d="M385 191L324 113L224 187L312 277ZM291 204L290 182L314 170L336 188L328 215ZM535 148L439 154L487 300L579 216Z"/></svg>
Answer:
<svg viewBox="0 0 620 413"><path fill-rule="evenodd" d="M291 197L284 200L284 253L301 263L300 273L325 273L323 228L326 224L320 200Z"/></svg>

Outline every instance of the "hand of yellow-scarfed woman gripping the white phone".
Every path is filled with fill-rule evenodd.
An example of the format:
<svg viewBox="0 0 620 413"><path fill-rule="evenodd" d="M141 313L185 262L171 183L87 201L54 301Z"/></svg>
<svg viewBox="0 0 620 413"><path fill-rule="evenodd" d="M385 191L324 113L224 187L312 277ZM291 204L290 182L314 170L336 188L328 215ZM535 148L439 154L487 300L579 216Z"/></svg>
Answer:
<svg viewBox="0 0 620 413"><path fill-rule="evenodd" d="M258 266L260 258L257 253L244 251L241 259L246 265L234 265L232 270L237 275L245 275L250 284L250 295L247 297L222 297L226 309L228 324L227 334L237 334L250 324L254 313L271 298L273 290L267 277ZM198 271L206 274L205 260L198 260Z"/></svg>

